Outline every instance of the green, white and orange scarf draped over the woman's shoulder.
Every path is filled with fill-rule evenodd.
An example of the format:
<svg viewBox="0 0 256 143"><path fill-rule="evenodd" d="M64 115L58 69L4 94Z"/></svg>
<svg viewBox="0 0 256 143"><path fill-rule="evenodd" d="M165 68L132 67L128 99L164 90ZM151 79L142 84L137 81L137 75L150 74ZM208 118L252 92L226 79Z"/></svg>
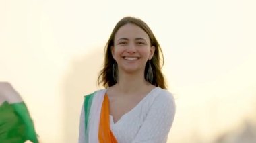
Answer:
<svg viewBox="0 0 256 143"><path fill-rule="evenodd" d="M109 101L106 90L84 97L85 134L88 143L117 143L110 130Z"/></svg>

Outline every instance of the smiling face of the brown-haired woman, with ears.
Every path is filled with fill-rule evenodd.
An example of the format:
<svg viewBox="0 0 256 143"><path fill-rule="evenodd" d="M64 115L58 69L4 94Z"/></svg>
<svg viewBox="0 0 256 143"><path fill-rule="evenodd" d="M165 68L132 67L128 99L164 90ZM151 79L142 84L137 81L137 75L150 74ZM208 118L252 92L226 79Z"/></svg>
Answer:
<svg viewBox="0 0 256 143"><path fill-rule="evenodd" d="M125 73L144 73L146 62L152 58L154 50L148 34L132 23L119 28L111 48L119 72Z"/></svg>

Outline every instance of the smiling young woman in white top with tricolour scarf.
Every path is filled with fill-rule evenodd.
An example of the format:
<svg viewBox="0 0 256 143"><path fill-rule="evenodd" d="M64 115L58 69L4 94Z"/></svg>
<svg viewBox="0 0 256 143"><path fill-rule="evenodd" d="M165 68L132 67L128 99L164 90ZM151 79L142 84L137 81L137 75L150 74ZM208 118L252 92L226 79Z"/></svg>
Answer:
<svg viewBox="0 0 256 143"><path fill-rule="evenodd" d="M79 142L166 142L175 103L166 91L163 62L148 25L135 17L121 19L106 44L98 77L106 89L84 97Z"/></svg>

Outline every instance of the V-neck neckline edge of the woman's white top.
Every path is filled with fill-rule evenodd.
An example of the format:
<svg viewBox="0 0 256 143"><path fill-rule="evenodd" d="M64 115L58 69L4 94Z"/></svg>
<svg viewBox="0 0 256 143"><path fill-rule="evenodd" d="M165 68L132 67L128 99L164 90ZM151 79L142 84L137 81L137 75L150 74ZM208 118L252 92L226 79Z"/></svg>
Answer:
<svg viewBox="0 0 256 143"><path fill-rule="evenodd" d="M141 99L141 101L139 101L139 103L137 103L137 105L135 105L135 107L133 107L130 111L128 111L127 113L123 114L119 120L117 120L116 122L114 122L114 117L112 115L109 114L109 118L110 118L110 125L111 126L115 126L116 124L119 124L119 122L121 122L121 120L123 120L123 118L125 118L127 115L129 115L131 112L133 112L135 109L137 109L137 107L139 107L139 105L141 105L141 103L143 103L143 101L145 101L148 97L150 97L150 95L152 95L152 93L154 91L156 91L156 89L158 89L159 87L154 87L149 93L147 93L147 95L145 97L143 97L143 99Z"/></svg>

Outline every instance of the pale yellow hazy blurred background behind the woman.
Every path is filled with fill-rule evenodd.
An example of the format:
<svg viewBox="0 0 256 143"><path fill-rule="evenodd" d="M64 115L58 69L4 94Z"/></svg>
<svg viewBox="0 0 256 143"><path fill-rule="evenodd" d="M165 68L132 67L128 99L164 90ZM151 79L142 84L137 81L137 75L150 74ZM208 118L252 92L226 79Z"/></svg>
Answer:
<svg viewBox="0 0 256 143"><path fill-rule="evenodd" d="M0 1L0 81L28 105L41 142L77 142L119 19L162 46L177 114L168 142L256 142L256 1Z"/></svg>

